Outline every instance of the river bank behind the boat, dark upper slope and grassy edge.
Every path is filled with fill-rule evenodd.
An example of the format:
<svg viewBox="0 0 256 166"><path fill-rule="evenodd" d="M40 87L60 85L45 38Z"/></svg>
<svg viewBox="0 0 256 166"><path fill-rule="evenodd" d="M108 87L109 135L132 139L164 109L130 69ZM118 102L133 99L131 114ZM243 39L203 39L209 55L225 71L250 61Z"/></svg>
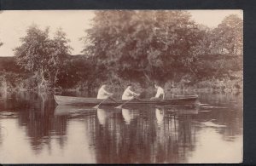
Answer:
<svg viewBox="0 0 256 166"><path fill-rule="evenodd" d="M222 61L222 56L205 56L207 58L212 57L211 60L207 58L200 60L201 66L197 76L187 74L189 77L182 77L181 74L176 74L177 77L173 80L167 81L161 86L164 87L166 93L169 94L195 94L197 92L218 92L218 93L239 93L242 92L242 60L241 56L239 60L230 59L225 64L232 64L232 66L224 69L219 69L218 61ZM227 58L227 57L226 57ZM214 60L213 60L214 59ZM233 60L233 61L232 61ZM45 91L51 92L80 92L86 91L90 96L95 96L97 89L102 84L102 79L111 77L112 80L108 81L110 91L112 92L123 92L128 83L132 83L135 86L135 90L138 93L143 91L155 92L153 81L147 82L146 78L133 77L133 82L125 81L118 75L113 74L103 77L99 74L90 73L90 68L86 68L88 65L83 56L68 56L69 65L65 70L61 71L58 75L58 81L55 85L49 86L51 88L44 89ZM211 61L211 63L210 63ZM210 66L213 62L217 63L212 69L206 70L207 64ZM235 62L239 62L236 64ZM85 63L86 62L86 63ZM87 64L87 65L86 65ZM238 67L239 66L239 67ZM84 68L85 67L85 68ZM214 69L214 70L213 70ZM215 70L216 69L216 70ZM218 69L218 70L217 70ZM105 73L105 72L104 72ZM108 72L109 73L109 72ZM182 77L182 78L180 78ZM14 57L2 57L0 58L0 90L4 92L11 91L39 91L38 85L40 83L40 76L26 72L17 66ZM143 85L142 85L143 84Z"/></svg>

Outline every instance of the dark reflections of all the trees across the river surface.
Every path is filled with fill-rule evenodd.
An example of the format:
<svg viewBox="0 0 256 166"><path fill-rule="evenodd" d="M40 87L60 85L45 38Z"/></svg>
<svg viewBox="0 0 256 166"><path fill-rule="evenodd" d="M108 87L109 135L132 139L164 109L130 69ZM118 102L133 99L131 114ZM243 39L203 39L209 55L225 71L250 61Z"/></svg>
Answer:
<svg viewBox="0 0 256 166"><path fill-rule="evenodd" d="M96 162L186 163L189 153L195 151L196 133L202 129L197 124L212 119L215 119L212 123L226 126L217 129L225 140L241 135L241 99L224 95L218 98L215 95L215 102L211 97L211 102L205 103L228 108L211 108L210 112L166 107L158 111L141 108L128 110L126 114L122 110L102 109L103 121L98 112L83 112L83 115L86 114L82 117L87 128L86 136L90 138L90 148L96 150ZM5 104L2 102L1 106L4 106L3 110L18 114L20 129L26 129L35 152L40 153L44 147L50 152L52 140L57 140L61 148L65 146L67 115L54 116L55 103L50 100L49 94L9 94L9 98L12 99L6 100ZM127 115L129 123L125 123ZM3 135L4 129L0 129L0 143L1 132Z"/></svg>

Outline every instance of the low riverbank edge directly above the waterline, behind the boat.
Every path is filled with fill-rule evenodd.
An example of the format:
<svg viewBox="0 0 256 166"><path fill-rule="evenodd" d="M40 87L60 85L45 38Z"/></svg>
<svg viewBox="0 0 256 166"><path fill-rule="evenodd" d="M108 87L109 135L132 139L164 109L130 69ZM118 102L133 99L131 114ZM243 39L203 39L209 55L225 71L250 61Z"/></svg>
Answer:
<svg viewBox="0 0 256 166"><path fill-rule="evenodd" d="M52 89L38 89L38 87L28 86L26 83L28 82L20 82L20 83L9 83L7 80L3 80L0 84L0 90L5 92L16 92L16 91L48 91L54 93L61 92L79 92L79 91L88 91L86 86L76 86L71 89L62 89L60 88L52 88ZM29 83L31 84L31 83ZM142 88L138 83L134 83L135 91L138 93L142 93L143 91L152 91L155 89L153 86L149 86L147 88ZM115 86L113 84L110 85L110 91L123 91L124 86ZM196 92L218 92L218 93L242 93L242 81L239 79L230 80L229 78L225 78L223 80L219 79L211 79L211 80L203 80L198 83L183 83L183 82L167 82L163 86L166 90L166 94L168 93L188 93L195 94ZM90 89L90 94L96 94L97 89Z"/></svg>

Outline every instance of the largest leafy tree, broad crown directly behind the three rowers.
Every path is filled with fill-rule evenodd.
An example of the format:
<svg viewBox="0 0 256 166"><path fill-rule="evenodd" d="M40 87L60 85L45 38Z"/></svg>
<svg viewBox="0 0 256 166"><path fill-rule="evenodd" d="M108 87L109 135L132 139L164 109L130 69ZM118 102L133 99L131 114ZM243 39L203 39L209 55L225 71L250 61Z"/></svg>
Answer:
<svg viewBox="0 0 256 166"><path fill-rule="evenodd" d="M185 11L97 11L84 37L84 54L109 77L165 83L193 72L200 29Z"/></svg>

